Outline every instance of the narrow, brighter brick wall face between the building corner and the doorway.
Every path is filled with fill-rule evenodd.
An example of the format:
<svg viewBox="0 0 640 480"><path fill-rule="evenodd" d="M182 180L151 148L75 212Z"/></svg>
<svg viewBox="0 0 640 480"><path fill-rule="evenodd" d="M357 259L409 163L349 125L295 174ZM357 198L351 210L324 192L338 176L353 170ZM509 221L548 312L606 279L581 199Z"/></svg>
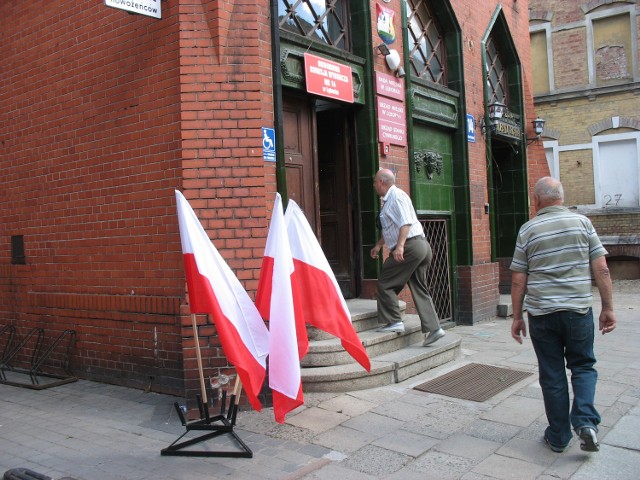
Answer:
<svg viewBox="0 0 640 480"><path fill-rule="evenodd" d="M184 193L250 294L260 266L276 191L262 158L261 127L273 126L268 3L182 0L180 75ZM182 318L185 389L200 390L188 309ZM211 319L198 316L206 376L229 370Z"/></svg>

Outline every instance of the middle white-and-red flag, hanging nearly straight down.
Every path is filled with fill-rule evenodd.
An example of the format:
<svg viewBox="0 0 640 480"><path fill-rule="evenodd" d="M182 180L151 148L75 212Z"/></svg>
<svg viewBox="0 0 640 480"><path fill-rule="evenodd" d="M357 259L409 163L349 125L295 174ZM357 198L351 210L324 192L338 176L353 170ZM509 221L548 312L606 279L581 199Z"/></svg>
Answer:
<svg viewBox="0 0 640 480"><path fill-rule="evenodd" d="M269 320L269 386L273 413L279 423L284 423L287 413L304 403L300 359L307 353L308 340L304 323L296 321L299 315L293 306L292 273L282 198L276 193L256 305L263 318Z"/></svg>

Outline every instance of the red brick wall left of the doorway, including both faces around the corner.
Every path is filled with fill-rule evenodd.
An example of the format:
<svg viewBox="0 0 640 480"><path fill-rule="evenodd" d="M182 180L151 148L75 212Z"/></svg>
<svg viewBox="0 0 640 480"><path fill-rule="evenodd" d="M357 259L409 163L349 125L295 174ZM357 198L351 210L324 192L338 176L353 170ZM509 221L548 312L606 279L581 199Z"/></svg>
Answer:
<svg viewBox="0 0 640 480"><path fill-rule="evenodd" d="M265 2L162 8L155 20L63 0L0 5L12 86L0 92L0 327L47 339L74 328L80 376L192 397L174 189L253 294L276 191L261 144L271 38ZM12 235L27 265L10 265ZM198 325L205 375L231 373L210 319Z"/></svg>

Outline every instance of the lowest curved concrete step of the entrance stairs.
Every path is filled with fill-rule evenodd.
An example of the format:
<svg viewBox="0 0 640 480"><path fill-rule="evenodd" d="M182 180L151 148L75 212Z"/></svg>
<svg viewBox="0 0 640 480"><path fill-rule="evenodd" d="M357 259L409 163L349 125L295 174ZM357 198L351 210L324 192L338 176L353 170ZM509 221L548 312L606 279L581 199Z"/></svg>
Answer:
<svg viewBox="0 0 640 480"><path fill-rule="evenodd" d="M345 365L303 368L303 389L307 392L336 393L402 382L455 360L461 354L461 343L459 335L447 332L444 338L430 347L423 347L420 340L384 355L370 356L370 373L355 361Z"/></svg>

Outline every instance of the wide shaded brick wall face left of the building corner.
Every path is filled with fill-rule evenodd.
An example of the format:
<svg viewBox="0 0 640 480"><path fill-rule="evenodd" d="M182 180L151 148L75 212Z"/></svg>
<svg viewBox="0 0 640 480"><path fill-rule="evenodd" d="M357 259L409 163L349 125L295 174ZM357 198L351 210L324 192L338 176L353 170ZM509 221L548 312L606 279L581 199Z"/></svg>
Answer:
<svg viewBox="0 0 640 480"><path fill-rule="evenodd" d="M171 10L0 4L0 326L73 328L80 376L176 392L177 27Z"/></svg>

